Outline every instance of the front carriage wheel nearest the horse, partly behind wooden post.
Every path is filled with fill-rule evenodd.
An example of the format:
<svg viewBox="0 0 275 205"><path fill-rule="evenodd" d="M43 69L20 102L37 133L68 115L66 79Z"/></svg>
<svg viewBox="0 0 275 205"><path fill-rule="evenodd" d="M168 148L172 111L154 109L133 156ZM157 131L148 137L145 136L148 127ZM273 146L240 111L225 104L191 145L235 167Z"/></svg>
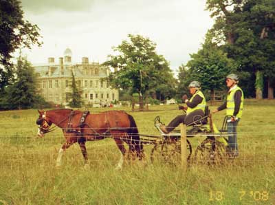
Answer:
<svg viewBox="0 0 275 205"><path fill-rule="evenodd" d="M188 160L192 153L192 147L188 140ZM151 161L155 164L179 164L181 160L181 143L177 139L167 138L153 147L151 151Z"/></svg>

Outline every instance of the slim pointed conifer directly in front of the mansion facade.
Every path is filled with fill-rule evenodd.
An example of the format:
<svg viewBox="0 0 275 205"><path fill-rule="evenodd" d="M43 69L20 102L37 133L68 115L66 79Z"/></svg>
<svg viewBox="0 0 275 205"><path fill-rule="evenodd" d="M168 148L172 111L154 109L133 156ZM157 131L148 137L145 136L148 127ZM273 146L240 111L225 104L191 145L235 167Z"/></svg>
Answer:
<svg viewBox="0 0 275 205"><path fill-rule="evenodd" d="M68 94L69 107L81 107L83 105L83 100L81 97L82 91L79 87L76 85L76 78L74 77L74 72L72 71L72 93Z"/></svg>

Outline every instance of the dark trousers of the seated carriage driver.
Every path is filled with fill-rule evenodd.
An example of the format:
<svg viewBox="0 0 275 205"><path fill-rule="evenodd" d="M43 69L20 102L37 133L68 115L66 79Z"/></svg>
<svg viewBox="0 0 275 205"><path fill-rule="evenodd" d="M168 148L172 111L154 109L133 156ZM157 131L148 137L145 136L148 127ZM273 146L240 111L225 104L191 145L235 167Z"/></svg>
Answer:
<svg viewBox="0 0 275 205"><path fill-rule="evenodd" d="M201 109L197 109L195 111L190 112L188 115L180 115L175 117L167 126L166 129L168 132L173 131L175 127L179 126L180 123L184 123L185 125L192 125L201 118L204 117L204 112ZM197 124L200 122L198 121Z"/></svg>

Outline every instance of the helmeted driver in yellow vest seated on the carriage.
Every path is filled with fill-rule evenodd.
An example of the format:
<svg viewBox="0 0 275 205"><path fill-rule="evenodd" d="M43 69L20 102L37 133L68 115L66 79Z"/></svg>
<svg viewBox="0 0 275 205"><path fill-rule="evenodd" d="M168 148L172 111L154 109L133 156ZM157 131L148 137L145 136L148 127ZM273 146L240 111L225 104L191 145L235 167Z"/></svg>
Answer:
<svg viewBox="0 0 275 205"><path fill-rule="evenodd" d="M192 125L192 122L195 122L196 120L204 117L206 98L203 96L203 93L200 90L201 84L198 81L192 81L188 87L190 94L192 94L192 97L190 98L190 100L188 100L186 95L182 96L182 99L186 103L187 107L179 106L179 109L186 110L186 114L177 116L166 127L164 125L160 125L159 128L164 133L169 133L170 131L173 131L173 129L175 129L175 127L177 127L180 123Z"/></svg>

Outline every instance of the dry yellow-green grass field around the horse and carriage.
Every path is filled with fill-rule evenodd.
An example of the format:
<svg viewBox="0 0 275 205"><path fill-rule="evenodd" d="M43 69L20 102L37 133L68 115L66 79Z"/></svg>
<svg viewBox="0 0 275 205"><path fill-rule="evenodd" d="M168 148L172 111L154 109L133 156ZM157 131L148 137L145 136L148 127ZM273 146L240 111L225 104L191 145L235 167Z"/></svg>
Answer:
<svg viewBox="0 0 275 205"><path fill-rule="evenodd" d="M216 107L216 106L214 106ZM210 107L210 109L214 109ZM124 108L120 108L124 109ZM140 133L157 135L155 116L168 124L177 105L132 112ZM109 109L91 109L99 112ZM225 111L214 114L221 127ZM36 110L0 112L0 204L275 204L275 100L245 100L238 126L239 158L208 166L126 162L115 171L120 152L111 139L87 142L90 169L77 144L55 167L64 142L60 129L36 138ZM192 138L193 148L203 138Z"/></svg>

